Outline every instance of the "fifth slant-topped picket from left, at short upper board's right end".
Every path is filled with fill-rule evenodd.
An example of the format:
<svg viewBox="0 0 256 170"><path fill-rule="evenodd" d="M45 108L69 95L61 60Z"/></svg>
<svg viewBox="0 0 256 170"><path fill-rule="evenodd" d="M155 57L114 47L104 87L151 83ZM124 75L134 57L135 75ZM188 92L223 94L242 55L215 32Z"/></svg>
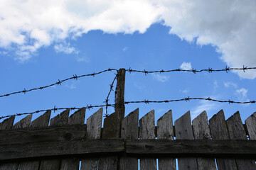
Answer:
<svg viewBox="0 0 256 170"><path fill-rule="evenodd" d="M70 115L68 118L68 125L83 125L85 124L85 108L81 108L80 110ZM61 160L60 169L69 170L74 169L78 170L80 164L80 159L78 158L68 158Z"/></svg>

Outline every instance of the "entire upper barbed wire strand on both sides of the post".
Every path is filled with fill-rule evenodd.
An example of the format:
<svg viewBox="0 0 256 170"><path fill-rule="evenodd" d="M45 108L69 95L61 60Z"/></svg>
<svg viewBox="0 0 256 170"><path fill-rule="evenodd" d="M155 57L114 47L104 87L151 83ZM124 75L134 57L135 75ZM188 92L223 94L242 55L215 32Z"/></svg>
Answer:
<svg viewBox="0 0 256 170"><path fill-rule="evenodd" d="M256 67L241 67L241 68L230 68L230 67L225 67L225 69L212 69L212 68L208 68L208 69L200 69L200 70L196 70L196 69L169 69L169 70L164 70L164 69L161 69L161 70L156 70L156 71L146 71L145 69L144 70L136 70L136 69L131 69L131 67L129 67L129 69L125 69L127 72L139 72L139 73L144 73L145 75L146 74L149 74L149 73L166 73L166 72L193 72L193 73L198 73L198 72L229 72L230 70L242 70L243 72L245 72L245 70L248 70L248 69L256 69ZM55 85L61 85L63 82L65 81L68 81L70 79L79 79L81 77L95 77L95 75L97 74L102 74L104 72L111 72L111 71L118 71L118 69L105 69L101 72L94 72L92 74L83 74L83 75L80 75L78 76L77 74L73 74L73 77L69 77L67 79L63 79L63 80L60 80L58 79L58 81L56 81L54 84L50 84L50 85L47 85L47 86L41 86L41 87L38 87L38 88L33 88L33 89L28 89L26 90L25 88L23 89L23 91L15 91L15 92L12 92L12 93L9 93L9 94L4 94L4 95L1 95L1 97L6 97L6 96L11 96L11 95L14 95L14 94L26 94L27 92L29 91L36 91L36 90L42 90L42 89L46 89L50 86L55 86Z"/></svg>

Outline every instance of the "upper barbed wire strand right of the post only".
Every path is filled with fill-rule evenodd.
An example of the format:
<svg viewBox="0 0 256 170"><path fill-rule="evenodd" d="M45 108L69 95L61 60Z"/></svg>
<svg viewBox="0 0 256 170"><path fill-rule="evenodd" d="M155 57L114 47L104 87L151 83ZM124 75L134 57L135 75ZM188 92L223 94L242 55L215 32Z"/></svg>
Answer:
<svg viewBox="0 0 256 170"><path fill-rule="evenodd" d="M256 67L245 67L245 66L242 66L242 68L233 68L233 67L225 67L225 69L213 69L213 68L208 68L208 69L199 69L199 70L196 70L196 69L169 69L169 70L164 70L164 69L161 69L161 70L156 70L156 71L147 71L147 70L136 70L136 69L131 69L131 67L129 69L125 69L125 71L129 72L129 73L132 73L132 72L139 72L139 73L144 73L145 75L146 74L149 74L149 73L165 73L165 72L193 72L194 74L196 73L199 73L199 72L209 72L209 73L212 73L212 72L229 72L230 70L242 70L243 72L245 72L245 70L248 70L248 69L256 69Z"/></svg>

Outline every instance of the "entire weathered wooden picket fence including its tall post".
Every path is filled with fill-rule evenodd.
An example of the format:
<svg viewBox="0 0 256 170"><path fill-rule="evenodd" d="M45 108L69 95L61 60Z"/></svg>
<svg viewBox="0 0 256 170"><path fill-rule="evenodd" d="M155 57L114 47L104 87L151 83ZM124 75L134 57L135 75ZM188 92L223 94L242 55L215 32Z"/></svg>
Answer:
<svg viewBox="0 0 256 170"><path fill-rule="evenodd" d="M245 125L239 112L225 120L223 111L209 121L203 112L192 123L189 111L174 123L168 111L156 126L154 111L139 120L137 108L124 118L124 75L119 70L115 112L103 128L102 108L86 124L85 108L0 123L0 170L169 170L176 159L181 170L256 169L256 113Z"/></svg>

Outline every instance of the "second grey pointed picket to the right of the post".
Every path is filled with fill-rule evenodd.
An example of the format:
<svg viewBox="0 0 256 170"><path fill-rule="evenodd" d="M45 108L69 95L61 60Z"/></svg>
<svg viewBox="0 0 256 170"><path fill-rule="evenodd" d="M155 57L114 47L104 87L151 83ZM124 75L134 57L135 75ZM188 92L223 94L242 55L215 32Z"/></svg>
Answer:
<svg viewBox="0 0 256 170"><path fill-rule="evenodd" d="M155 139L155 121L154 110L144 115L139 120L139 140ZM156 159L142 158L139 162L139 168L142 170L156 170Z"/></svg>

